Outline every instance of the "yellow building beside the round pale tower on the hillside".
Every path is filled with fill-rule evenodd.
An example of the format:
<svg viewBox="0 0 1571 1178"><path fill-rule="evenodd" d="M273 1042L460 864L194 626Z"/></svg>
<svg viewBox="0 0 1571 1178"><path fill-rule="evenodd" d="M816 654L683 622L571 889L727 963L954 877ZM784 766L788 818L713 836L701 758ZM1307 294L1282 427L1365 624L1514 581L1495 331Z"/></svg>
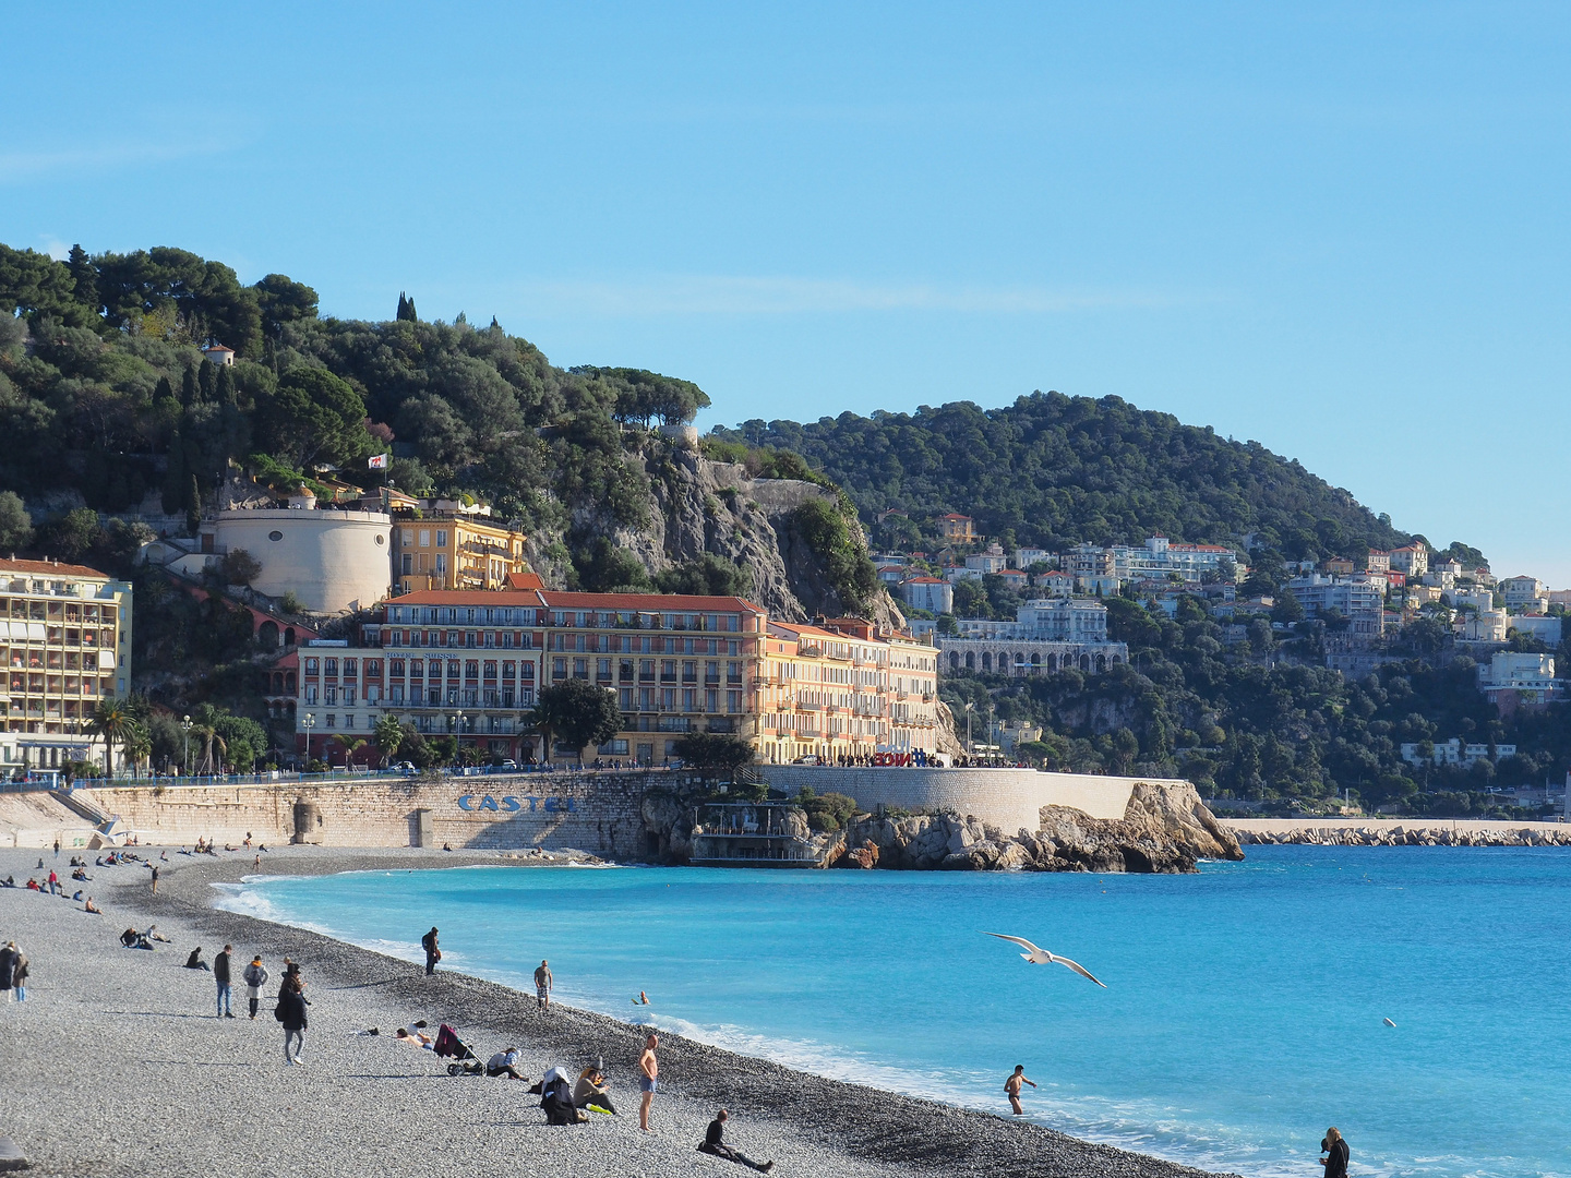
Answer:
<svg viewBox="0 0 1571 1178"><path fill-rule="evenodd" d="M509 573L529 572L528 537L479 510L454 504L393 509L394 594L432 589L504 589Z"/></svg>

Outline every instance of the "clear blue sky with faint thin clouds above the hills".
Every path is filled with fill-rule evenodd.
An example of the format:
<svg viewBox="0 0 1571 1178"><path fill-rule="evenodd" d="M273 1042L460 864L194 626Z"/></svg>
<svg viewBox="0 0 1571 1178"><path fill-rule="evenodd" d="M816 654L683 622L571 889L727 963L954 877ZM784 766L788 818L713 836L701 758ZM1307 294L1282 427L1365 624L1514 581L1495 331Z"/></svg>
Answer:
<svg viewBox="0 0 1571 1178"><path fill-rule="evenodd" d="M1117 394L1562 587L1568 41L1511 3L30 5L0 240L408 291L696 380L701 424Z"/></svg>

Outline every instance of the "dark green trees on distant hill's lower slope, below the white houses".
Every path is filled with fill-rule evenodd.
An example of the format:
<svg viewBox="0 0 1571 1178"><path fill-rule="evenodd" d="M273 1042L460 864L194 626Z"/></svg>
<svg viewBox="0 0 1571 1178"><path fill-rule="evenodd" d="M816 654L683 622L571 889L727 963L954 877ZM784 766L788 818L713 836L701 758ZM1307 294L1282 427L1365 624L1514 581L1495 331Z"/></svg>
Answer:
<svg viewBox="0 0 1571 1178"><path fill-rule="evenodd" d="M1255 801L1351 790L1371 806L1469 812L1492 804L1481 790L1558 779L1571 759L1566 708L1502 719L1464 655L1390 663L1349 682L1310 664L1315 624L1279 642L1269 619L1240 619L1247 641L1224 646L1222 628L1192 598L1181 598L1177 620L1125 598L1108 605L1130 666L1103 675L949 675L943 697L957 713L972 701L983 719L1042 724L1040 744L1023 752L1045 768L1185 776L1202 793ZM1472 768L1401 760L1404 741L1452 737L1511 743L1518 752Z"/></svg>

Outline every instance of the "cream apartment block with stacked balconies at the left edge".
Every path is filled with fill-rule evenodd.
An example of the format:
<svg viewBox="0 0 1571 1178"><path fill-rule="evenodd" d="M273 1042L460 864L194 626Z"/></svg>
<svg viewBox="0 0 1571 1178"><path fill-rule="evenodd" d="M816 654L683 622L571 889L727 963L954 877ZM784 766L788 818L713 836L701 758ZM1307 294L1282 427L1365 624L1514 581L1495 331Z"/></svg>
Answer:
<svg viewBox="0 0 1571 1178"><path fill-rule="evenodd" d="M60 768L102 755L101 699L130 691L130 583L79 564L0 561L0 765Z"/></svg>

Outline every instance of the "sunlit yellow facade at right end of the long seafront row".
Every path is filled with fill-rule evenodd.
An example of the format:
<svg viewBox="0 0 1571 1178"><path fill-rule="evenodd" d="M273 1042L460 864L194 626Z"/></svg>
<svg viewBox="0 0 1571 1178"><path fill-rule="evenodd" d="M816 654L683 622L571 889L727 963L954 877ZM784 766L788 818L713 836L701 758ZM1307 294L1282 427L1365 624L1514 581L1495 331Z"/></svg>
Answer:
<svg viewBox="0 0 1571 1178"><path fill-rule="evenodd" d="M770 622L757 677L759 760L834 763L936 752L938 652L870 622Z"/></svg>

